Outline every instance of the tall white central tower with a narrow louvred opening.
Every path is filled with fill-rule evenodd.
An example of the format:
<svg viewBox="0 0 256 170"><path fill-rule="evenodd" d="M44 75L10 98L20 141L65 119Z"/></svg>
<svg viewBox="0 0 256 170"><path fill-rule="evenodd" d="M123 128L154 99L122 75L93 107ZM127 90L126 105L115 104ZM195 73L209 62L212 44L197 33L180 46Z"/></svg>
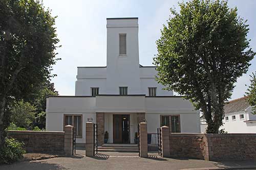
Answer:
<svg viewBox="0 0 256 170"><path fill-rule="evenodd" d="M138 18L106 19L106 93L141 94L139 70Z"/></svg>

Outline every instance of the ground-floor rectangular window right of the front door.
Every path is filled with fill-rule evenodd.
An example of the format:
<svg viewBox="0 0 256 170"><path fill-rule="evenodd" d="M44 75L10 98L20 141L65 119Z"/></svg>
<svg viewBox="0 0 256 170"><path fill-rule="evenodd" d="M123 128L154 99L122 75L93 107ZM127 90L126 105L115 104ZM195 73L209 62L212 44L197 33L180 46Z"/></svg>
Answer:
<svg viewBox="0 0 256 170"><path fill-rule="evenodd" d="M180 115L160 115L160 125L169 127L172 133L180 133Z"/></svg>

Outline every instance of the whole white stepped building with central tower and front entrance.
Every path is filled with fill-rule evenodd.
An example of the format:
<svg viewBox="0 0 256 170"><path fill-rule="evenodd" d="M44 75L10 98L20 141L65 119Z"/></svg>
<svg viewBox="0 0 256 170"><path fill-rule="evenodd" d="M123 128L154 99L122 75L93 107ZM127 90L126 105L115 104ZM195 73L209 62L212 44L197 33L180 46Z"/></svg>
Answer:
<svg viewBox="0 0 256 170"><path fill-rule="evenodd" d="M155 81L154 66L139 64L138 18L107 18L105 67L78 67L75 96L47 99L47 131L73 125L77 142L85 142L86 122L98 125L98 140L105 131L110 143L134 143L139 122L148 133L160 125L172 132L200 132L199 111L187 100L173 96Z"/></svg>

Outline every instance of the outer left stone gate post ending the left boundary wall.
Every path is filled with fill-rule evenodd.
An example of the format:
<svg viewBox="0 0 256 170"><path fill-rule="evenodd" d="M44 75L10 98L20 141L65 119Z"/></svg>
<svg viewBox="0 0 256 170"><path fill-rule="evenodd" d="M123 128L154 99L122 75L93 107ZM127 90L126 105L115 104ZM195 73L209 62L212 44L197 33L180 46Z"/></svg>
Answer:
<svg viewBox="0 0 256 170"><path fill-rule="evenodd" d="M64 152L66 156L73 155L73 126L64 127Z"/></svg>

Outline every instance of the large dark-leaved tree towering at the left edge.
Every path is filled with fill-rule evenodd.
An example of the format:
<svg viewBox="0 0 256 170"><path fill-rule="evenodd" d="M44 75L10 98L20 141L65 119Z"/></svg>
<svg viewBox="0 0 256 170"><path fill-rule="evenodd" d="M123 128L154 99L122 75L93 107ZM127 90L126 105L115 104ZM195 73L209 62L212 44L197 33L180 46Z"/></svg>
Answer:
<svg viewBox="0 0 256 170"><path fill-rule="evenodd" d="M0 145L5 141L13 102L50 79L58 60L55 17L33 0L0 2Z"/></svg>

